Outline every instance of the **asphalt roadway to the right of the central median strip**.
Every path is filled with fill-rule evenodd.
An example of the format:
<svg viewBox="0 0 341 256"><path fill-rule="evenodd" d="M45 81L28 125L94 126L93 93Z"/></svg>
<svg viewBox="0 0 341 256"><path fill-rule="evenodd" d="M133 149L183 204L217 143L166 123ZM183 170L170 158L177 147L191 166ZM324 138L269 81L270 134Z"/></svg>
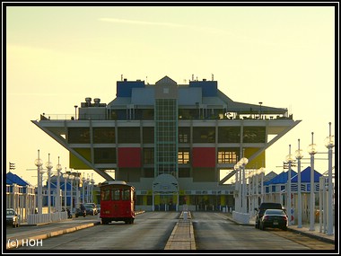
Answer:
<svg viewBox="0 0 341 256"><path fill-rule="evenodd" d="M193 212L192 222L197 250L302 252L335 250L335 245L276 228L259 230L238 225L220 213ZM249 253L249 252L245 252Z"/></svg>

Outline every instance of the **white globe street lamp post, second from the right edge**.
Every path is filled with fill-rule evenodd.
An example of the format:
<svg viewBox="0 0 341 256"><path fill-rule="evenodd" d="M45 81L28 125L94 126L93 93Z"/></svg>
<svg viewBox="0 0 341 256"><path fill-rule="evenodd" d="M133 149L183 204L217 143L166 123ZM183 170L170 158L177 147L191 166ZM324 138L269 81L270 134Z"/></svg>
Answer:
<svg viewBox="0 0 341 256"><path fill-rule="evenodd" d="M310 154L310 231L315 230L315 185L314 185L314 154L317 153L316 145L314 144L314 133L311 132L311 144L308 146Z"/></svg>

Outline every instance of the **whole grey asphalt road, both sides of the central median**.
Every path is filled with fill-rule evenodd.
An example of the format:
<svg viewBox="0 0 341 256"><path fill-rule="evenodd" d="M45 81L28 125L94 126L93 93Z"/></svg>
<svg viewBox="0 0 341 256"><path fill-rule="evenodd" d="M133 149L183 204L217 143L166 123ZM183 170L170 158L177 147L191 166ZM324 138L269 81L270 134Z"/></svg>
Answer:
<svg viewBox="0 0 341 256"><path fill-rule="evenodd" d="M335 244L291 231L271 228L262 231L253 225L238 225L222 213L192 212L191 215L197 252L297 253L335 250ZM89 218L92 217L97 218L97 216L89 216ZM87 219L88 217L77 218L75 221L81 224ZM145 212L136 216L133 225L126 225L124 222L93 225L76 232L44 239L39 244L22 246L13 250L57 253L75 252L75 250L77 252L86 250L86 253L163 251L178 221L179 213L177 212ZM20 227L22 234L32 234L44 228L48 228L48 225ZM8 232L12 233L15 230L18 229L9 229Z"/></svg>

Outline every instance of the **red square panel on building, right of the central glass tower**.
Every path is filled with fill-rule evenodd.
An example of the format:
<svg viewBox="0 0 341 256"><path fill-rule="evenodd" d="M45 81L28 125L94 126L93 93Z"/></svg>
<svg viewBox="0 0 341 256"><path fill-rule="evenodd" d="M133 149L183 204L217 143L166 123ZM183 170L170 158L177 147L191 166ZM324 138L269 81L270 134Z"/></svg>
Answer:
<svg viewBox="0 0 341 256"><path fill-rule="evenodd" d="M194 147L193 167L214 167L215 148L214 147Z"/></svg>

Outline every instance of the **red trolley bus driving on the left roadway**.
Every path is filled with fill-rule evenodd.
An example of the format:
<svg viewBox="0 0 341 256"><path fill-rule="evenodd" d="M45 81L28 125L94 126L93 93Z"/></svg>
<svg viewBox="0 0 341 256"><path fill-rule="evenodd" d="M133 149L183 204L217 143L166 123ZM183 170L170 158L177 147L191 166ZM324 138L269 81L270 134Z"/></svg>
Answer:
<svg viewBox="0 0 341 256"><path fill-rule="evenodd" d="M135 220L135 188L126 181L104 181L101 183L101 224Z"/></svg>

